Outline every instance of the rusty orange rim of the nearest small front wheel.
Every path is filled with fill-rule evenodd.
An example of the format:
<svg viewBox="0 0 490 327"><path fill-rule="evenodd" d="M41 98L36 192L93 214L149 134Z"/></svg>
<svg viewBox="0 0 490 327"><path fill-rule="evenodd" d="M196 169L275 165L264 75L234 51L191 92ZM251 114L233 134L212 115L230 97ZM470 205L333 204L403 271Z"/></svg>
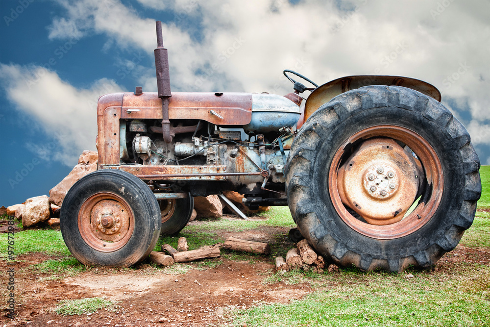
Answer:
<svg viewBox="0 0 490 327"><path fill-rule="evenodd" d="M134 213L120 196L101 192L83 202L78 212L82 239L100 252L114 252L127 244L134 230Z"/></svg>

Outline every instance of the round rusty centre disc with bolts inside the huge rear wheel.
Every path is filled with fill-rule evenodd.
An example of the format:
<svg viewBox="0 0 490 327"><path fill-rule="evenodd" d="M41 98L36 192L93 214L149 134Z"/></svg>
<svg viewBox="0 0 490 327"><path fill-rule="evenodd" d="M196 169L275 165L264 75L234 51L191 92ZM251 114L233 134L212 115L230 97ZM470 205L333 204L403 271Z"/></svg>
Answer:
<svg viewBox="0 0 490 327"><path fill-rule="evenodd" d="M341 200L368 224L399 222L415 201L418 166L391 138L364 141L339 168Z"/></svg>

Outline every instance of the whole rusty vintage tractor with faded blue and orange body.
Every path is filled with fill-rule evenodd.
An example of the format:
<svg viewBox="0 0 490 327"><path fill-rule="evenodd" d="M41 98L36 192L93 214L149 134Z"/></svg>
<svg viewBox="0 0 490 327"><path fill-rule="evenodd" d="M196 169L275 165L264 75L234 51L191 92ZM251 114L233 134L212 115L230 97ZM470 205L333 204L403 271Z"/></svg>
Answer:
<svg viewBox="0 0 490 327"><path fill-rule="evenodd" d="M100 97L98 170L63 202L63 238L82 263L142 260L187 225L193 197L225 190L252 209L288 205L318 252L362 270L428 267L471 226L480 162L434 86L400 76L318 86L285 70L285 96L172 93L160 22L157 42L158 93Z"/></svg>

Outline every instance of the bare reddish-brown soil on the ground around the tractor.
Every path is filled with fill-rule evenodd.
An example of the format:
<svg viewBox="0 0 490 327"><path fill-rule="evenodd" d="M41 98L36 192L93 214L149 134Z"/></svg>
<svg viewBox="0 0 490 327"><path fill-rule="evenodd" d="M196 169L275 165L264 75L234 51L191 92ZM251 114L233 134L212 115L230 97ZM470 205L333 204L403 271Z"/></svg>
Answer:
<svg viewBox="0 0 490 327"><path fill-rule="evenodd" d="M201 224L195 222L194 224ZM266 227L243 232L216 231L220 237L234 236L252 241L273 242L277 247L293 247L287 239L289 228ZM164 269L143 263L135 269L91 268L77 276L51 279L32 265L56 258L42 253L17 257L15 286L17 316L7 319L1 306L1 326L223 326L232 322L233 310L262 303L288 303L301 299L314 289L308 283L268 284L273 273L270 256L256 256L253 263L216 258L207 268L198 263L184 264L185 274L171 275ZM459 245L446 253L428 274L454 272L462 262L489 264L490 250ZM204 267L203 267L204 266ZM12 266L0 261L0 270ZM197 269L197 267L201 267ZM208 266L209 267L209 266ZM6 279L2 278L3 290ZM339 282L342 282L339 280ZM334 287L333 285L330 285ZM115 311L61 316L54 311L62 300L101 297L117 302ZM5 303L6 295L0 296Z"/></svg>

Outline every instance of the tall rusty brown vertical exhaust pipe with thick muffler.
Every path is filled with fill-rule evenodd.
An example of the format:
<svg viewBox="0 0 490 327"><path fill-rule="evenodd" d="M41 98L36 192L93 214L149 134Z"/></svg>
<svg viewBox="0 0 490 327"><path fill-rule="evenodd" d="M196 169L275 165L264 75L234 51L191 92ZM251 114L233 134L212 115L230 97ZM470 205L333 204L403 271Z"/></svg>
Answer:
<svg viewBox="0 0 490 327"><path fill-rule="evenodd" d="M166 143L171 143L172 135L170 135L169 98L172 97L172 92L170 90L169 54L167 49L163 47L162 22L160 21L156 22L156 40L155 68L158 98L162 99L162 134L163 140Z"/></svg>

